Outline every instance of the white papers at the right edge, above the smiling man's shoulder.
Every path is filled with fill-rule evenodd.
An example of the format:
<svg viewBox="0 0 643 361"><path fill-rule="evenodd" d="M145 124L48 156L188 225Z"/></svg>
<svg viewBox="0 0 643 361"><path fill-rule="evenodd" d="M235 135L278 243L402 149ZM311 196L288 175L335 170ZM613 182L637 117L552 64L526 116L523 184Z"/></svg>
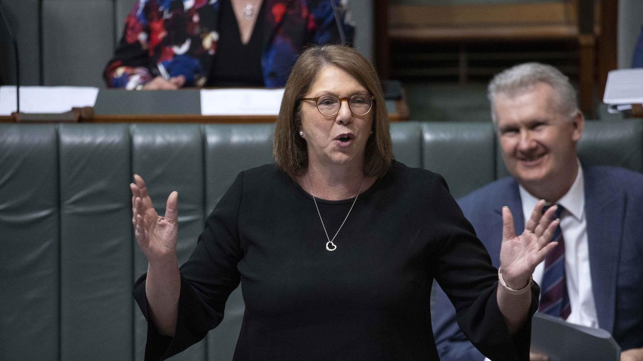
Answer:
<svg viewBox="0 0 643 361"><path fill-rule="evenodd" d="M643 103L643 68L610 71L603 102L610 105Z"/></svg>

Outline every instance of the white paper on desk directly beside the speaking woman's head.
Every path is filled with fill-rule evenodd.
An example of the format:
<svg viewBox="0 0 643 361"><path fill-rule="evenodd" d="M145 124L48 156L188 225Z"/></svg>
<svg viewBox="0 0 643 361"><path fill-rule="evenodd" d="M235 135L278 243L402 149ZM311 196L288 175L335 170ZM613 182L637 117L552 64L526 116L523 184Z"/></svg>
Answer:
<svg viewBox="0 0 643 361"><path fill-rule="evenodd" d="M277 115L284 89L203 89L201 115Z"/></svg>

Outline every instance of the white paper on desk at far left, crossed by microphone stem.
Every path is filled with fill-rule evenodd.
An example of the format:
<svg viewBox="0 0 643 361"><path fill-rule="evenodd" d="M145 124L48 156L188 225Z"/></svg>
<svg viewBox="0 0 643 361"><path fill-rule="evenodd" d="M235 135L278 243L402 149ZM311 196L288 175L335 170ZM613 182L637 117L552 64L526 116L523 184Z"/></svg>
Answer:
<svg viewBox="0 0 643 361"><path fill-rule="evenodd" d="M20 111L23 113L64 113L73 107L93 107L96 87L20 87ZM0 115L16 111L15 85L0 87Z"/></svg>

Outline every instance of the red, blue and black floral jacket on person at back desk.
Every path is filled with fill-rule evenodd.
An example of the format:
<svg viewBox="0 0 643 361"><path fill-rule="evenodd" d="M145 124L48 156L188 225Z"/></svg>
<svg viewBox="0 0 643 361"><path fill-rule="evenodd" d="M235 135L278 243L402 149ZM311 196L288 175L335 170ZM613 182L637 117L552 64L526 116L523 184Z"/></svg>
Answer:
<svg viewBox="0 0 643 361"><path fill-rule="evenodd" d="M308 44L341 42L336 5L345 39L354 26L348 0L264 0L261 66L266 87L282 87L300 51ZM187 87L202 87L217 53L220 1L138 0L103 76L107 86L136 89L162 72L185 76Z"/></svg>

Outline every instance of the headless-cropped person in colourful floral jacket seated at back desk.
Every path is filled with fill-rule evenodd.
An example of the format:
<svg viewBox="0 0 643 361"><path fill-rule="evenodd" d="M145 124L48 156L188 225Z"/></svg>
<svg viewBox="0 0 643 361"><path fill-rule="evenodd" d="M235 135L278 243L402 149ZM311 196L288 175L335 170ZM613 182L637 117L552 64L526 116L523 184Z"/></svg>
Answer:
<svg viewBox="0 0 643 361"><path fill-rule="evenodd" d="M282 87L309 44L352 42L347 0L140 0L108 87Z"/></svg>

